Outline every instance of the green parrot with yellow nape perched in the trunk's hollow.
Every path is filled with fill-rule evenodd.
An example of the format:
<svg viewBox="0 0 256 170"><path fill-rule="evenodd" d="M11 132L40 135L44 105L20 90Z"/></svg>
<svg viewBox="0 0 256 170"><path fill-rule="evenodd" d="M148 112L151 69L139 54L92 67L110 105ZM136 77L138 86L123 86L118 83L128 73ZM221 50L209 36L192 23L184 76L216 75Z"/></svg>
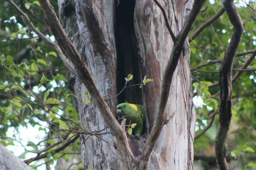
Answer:
<svg viewBox="0 0 256 170"><path fill-rule="evenodd" d="M132 129L132 134L139 137L142 134L143 124L146 120L144 107L138 104L121 103L116 108L118 116L125 116L126 125L136 123L134 129Z"/></svg>

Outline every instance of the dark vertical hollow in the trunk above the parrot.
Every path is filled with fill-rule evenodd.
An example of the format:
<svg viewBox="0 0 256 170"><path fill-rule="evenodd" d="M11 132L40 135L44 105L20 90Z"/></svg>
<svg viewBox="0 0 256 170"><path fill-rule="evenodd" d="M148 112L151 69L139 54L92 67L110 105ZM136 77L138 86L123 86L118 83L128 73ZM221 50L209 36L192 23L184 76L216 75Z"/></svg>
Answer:
<svg viewBox="0 0 256 170"><path fill-rule="evenodd" d="M133 79L127 85L142 82L134 29L134 9L135 0L116 1L117 93L123 89L128 74L132 74ZM117 101L143 105L142 89L139 86L125 88Z"/></svg>

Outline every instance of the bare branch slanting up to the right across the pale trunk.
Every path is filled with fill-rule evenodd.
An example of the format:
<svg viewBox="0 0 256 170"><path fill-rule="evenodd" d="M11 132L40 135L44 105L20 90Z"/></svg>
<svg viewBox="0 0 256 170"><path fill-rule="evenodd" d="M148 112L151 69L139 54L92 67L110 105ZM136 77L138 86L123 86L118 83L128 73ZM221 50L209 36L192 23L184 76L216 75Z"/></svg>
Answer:
<svg viewBox="0 0 256 170"><path fill-rule="evenodd" d="M157 118L154 121L154 125L150 136L148 137L148 141L145 144L142 155L141 155L141 162L139 169L147 169L151 152L157 142L157 139L162 131L162 127L165 122L165 107L169 97L170 86L172 84L172 77L174 71L177 67L178 60L180 59L180 55L182 53L182 49L184 47L184 43L186 38L188 37L188 33L192 28L193 23L195 22L196 16L200 12L205 0L195 0L193 7L189 13L188 18L186 19L184 26L182 27L180 34L177 36L177 41L173 45L172 53L170 55L170 59L167 62L167 66L165 68L163 74L163 81L162 81L162 89L161 89L161 97L158 107Z"/></svg>

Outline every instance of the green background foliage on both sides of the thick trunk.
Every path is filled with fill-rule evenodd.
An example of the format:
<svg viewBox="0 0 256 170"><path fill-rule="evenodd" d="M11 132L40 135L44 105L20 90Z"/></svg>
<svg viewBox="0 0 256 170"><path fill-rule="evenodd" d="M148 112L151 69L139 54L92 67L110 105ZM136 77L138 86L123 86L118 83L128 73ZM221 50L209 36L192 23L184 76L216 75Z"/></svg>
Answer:
<svg viewBox="0 0 256 170"><path fill-rule="evenodd" d="M50 41L56 41L45 24L47 19L38 1L14 2L37 30ZM50 2L58 13L57 1ZM255 1L243 0L236 0L235 5L244 31L232 69L232 118L225 152L230 167L253 169L256 167L256 6ZM197 114L195 167L198 164L205 168L217 166L214 147L219 122L219 72L232 31L222 2L209 0L189 34ZM24 152L18 156L25 163L37 168L55 165L60 158L68 162L73 155L80 154L79 134L88 134L87 140L101 138L100 131L91 133L80 125L72 78L57 51L39 38L5 0L0 2L0 64L0 142L12 146L9 148L23 147ZM128 82L131 78L124 77L123 81L132 85ZM91 95L84 92L84 98L79 100L90 104ZM22 127L33 127L43 135L23 139ZM79 169L82 165L75 160L74 165L69 166L67 169L71 166Z"/></svg>

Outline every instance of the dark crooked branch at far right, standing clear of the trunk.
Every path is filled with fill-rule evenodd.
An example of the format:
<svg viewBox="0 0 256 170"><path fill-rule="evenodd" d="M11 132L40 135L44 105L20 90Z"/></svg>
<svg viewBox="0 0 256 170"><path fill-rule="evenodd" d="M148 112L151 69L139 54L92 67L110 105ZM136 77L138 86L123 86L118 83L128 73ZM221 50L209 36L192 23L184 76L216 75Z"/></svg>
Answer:
<svg viewBox="0 0 256 170"><path fill-rule="evenodd" d="M227 132L229 131L229 125L231 121L231 105L232 105L232 82L231 71L233 66L233 60L236 54L236 50L242 37L242 31L244 30L241 18L234 5L233 0L226 0L223 2L226 13L229 17L231 24L233 25L233 32L230 39L230 43L226 49L221 69L219 73L219 87L220 87L220 111L219 111L219 126L215 139L215 154L219 169L228 170L227 162L225 158L225 140Z"/></svg>

